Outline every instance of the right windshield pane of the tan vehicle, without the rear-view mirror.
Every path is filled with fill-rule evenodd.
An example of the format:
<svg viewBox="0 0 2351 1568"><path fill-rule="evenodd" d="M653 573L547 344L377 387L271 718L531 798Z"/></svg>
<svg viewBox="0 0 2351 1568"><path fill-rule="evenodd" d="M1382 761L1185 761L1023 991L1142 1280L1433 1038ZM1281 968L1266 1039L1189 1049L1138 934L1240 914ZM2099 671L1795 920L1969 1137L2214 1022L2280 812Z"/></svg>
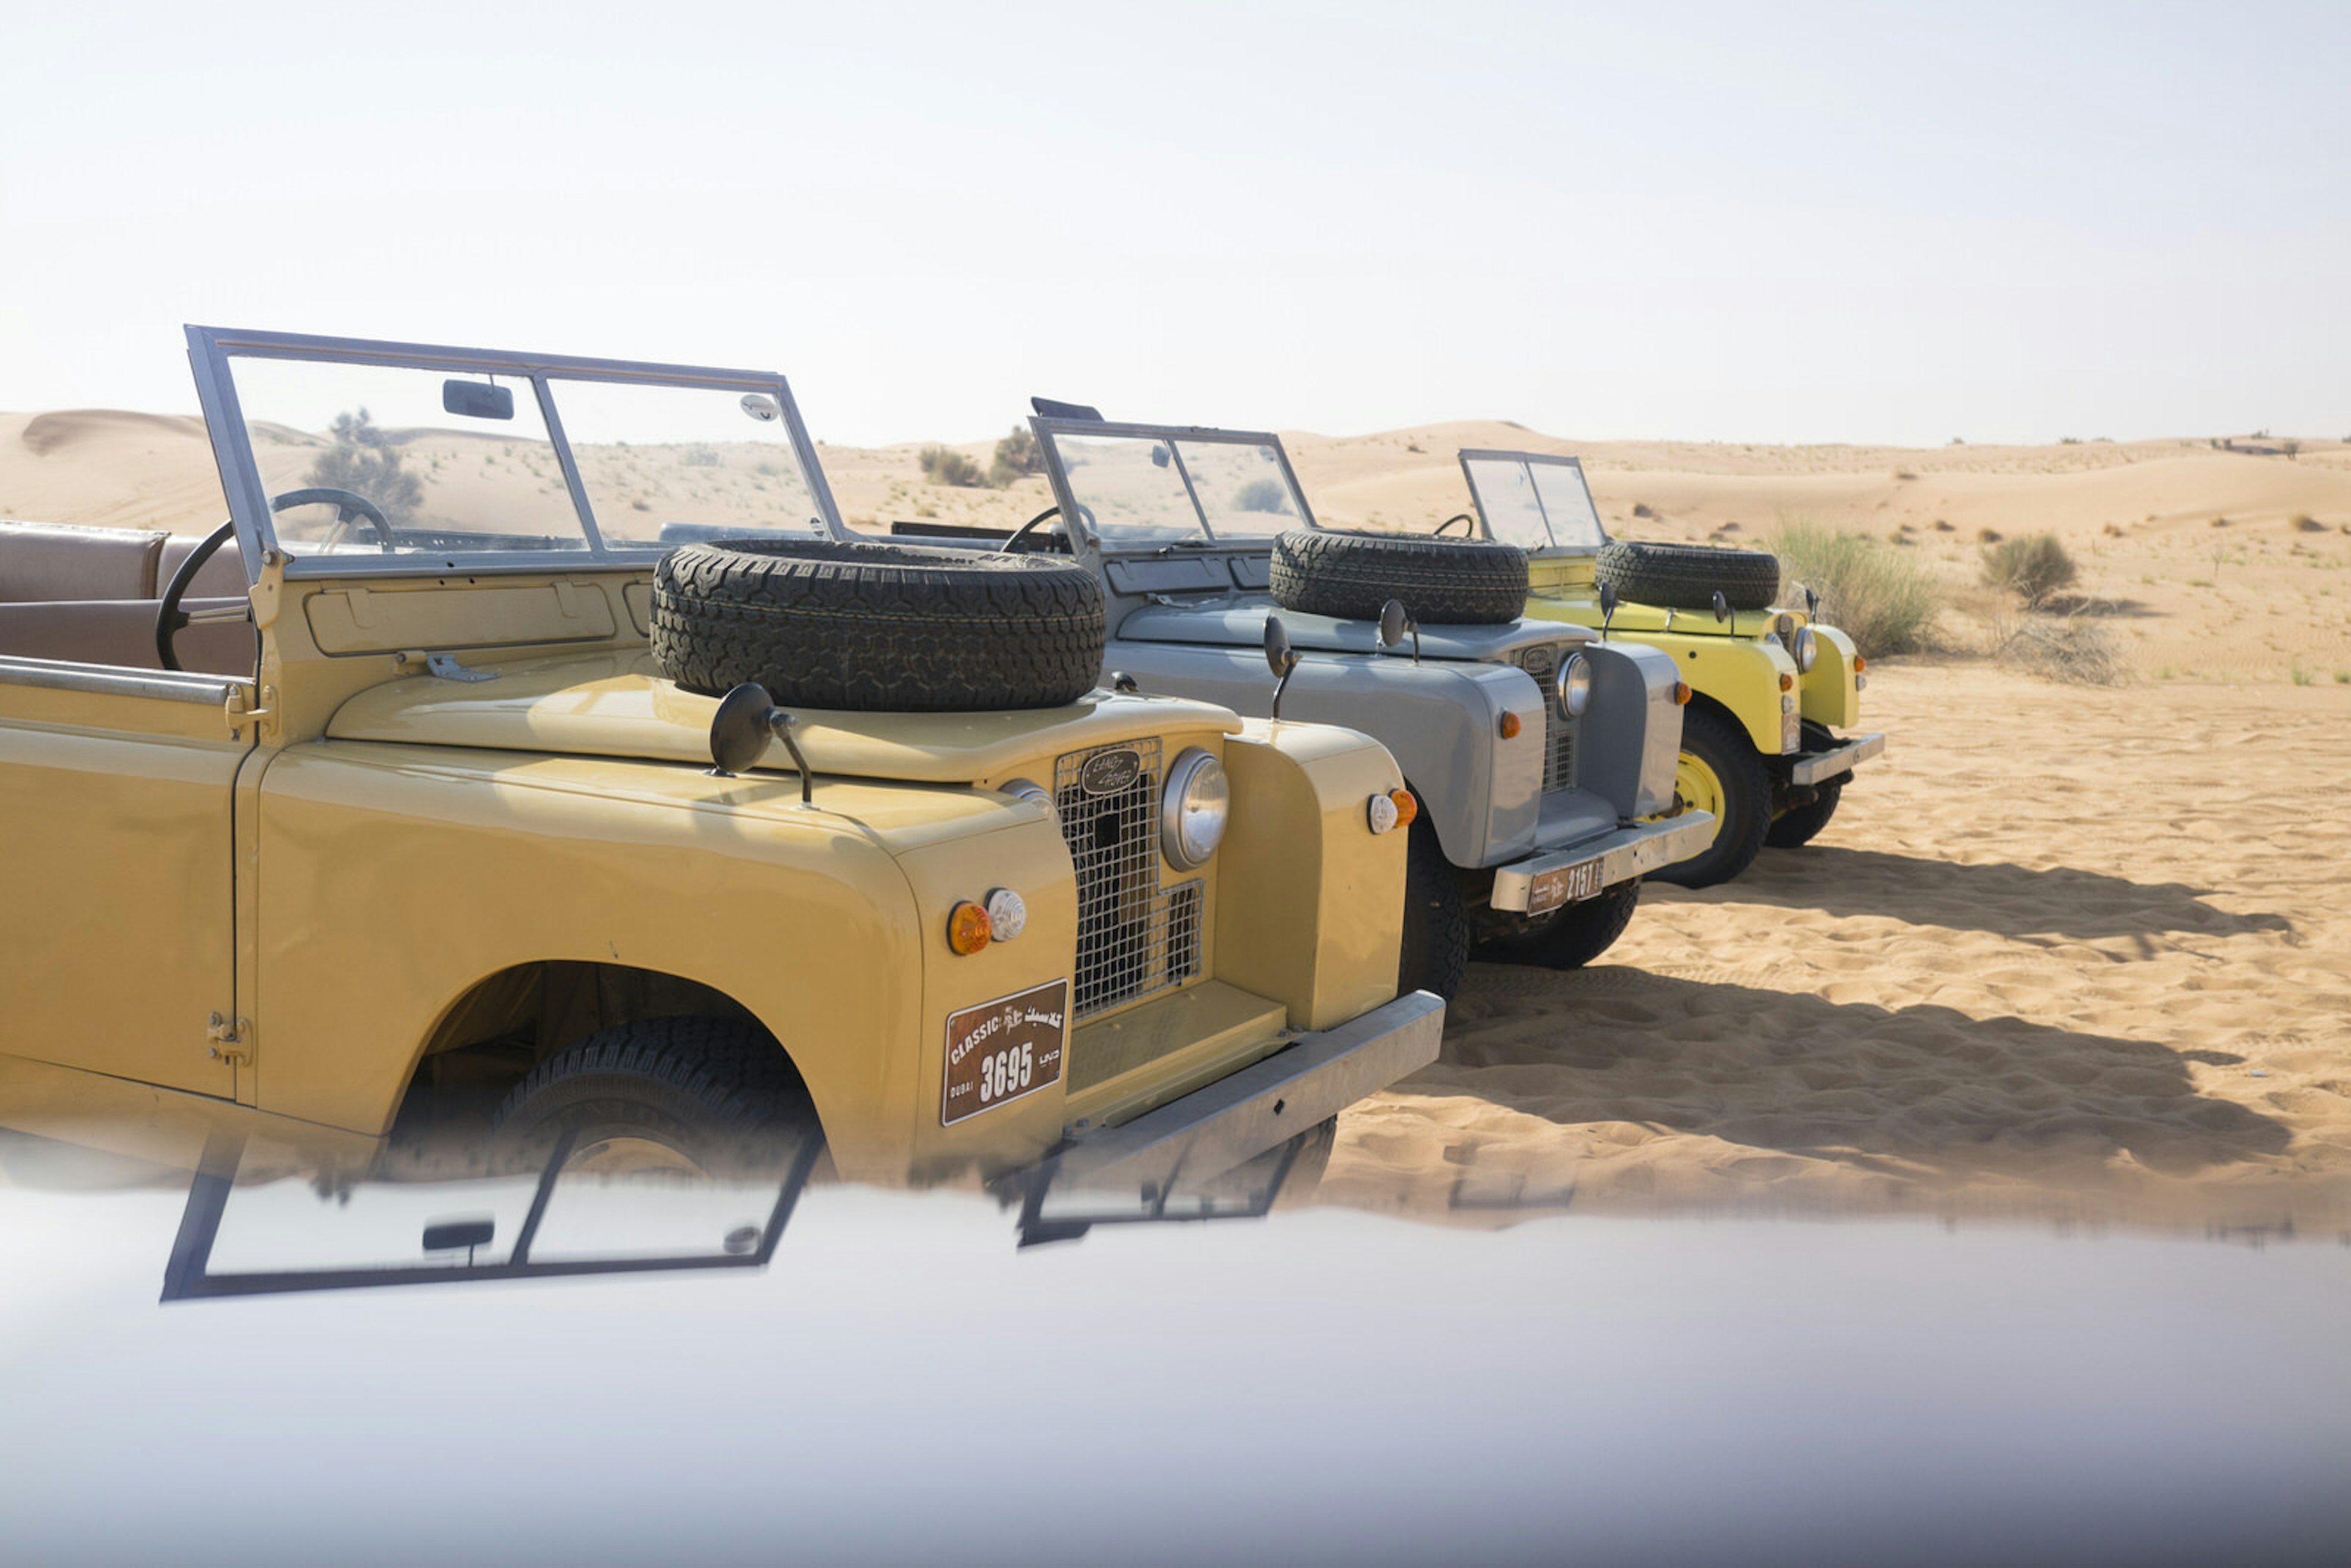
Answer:
<svg viewBox="0 0 2351 1568"><path fill-rule="evenodd" d="M607 545L825 536L771 395L560 376L548 390Z"/></svg>

